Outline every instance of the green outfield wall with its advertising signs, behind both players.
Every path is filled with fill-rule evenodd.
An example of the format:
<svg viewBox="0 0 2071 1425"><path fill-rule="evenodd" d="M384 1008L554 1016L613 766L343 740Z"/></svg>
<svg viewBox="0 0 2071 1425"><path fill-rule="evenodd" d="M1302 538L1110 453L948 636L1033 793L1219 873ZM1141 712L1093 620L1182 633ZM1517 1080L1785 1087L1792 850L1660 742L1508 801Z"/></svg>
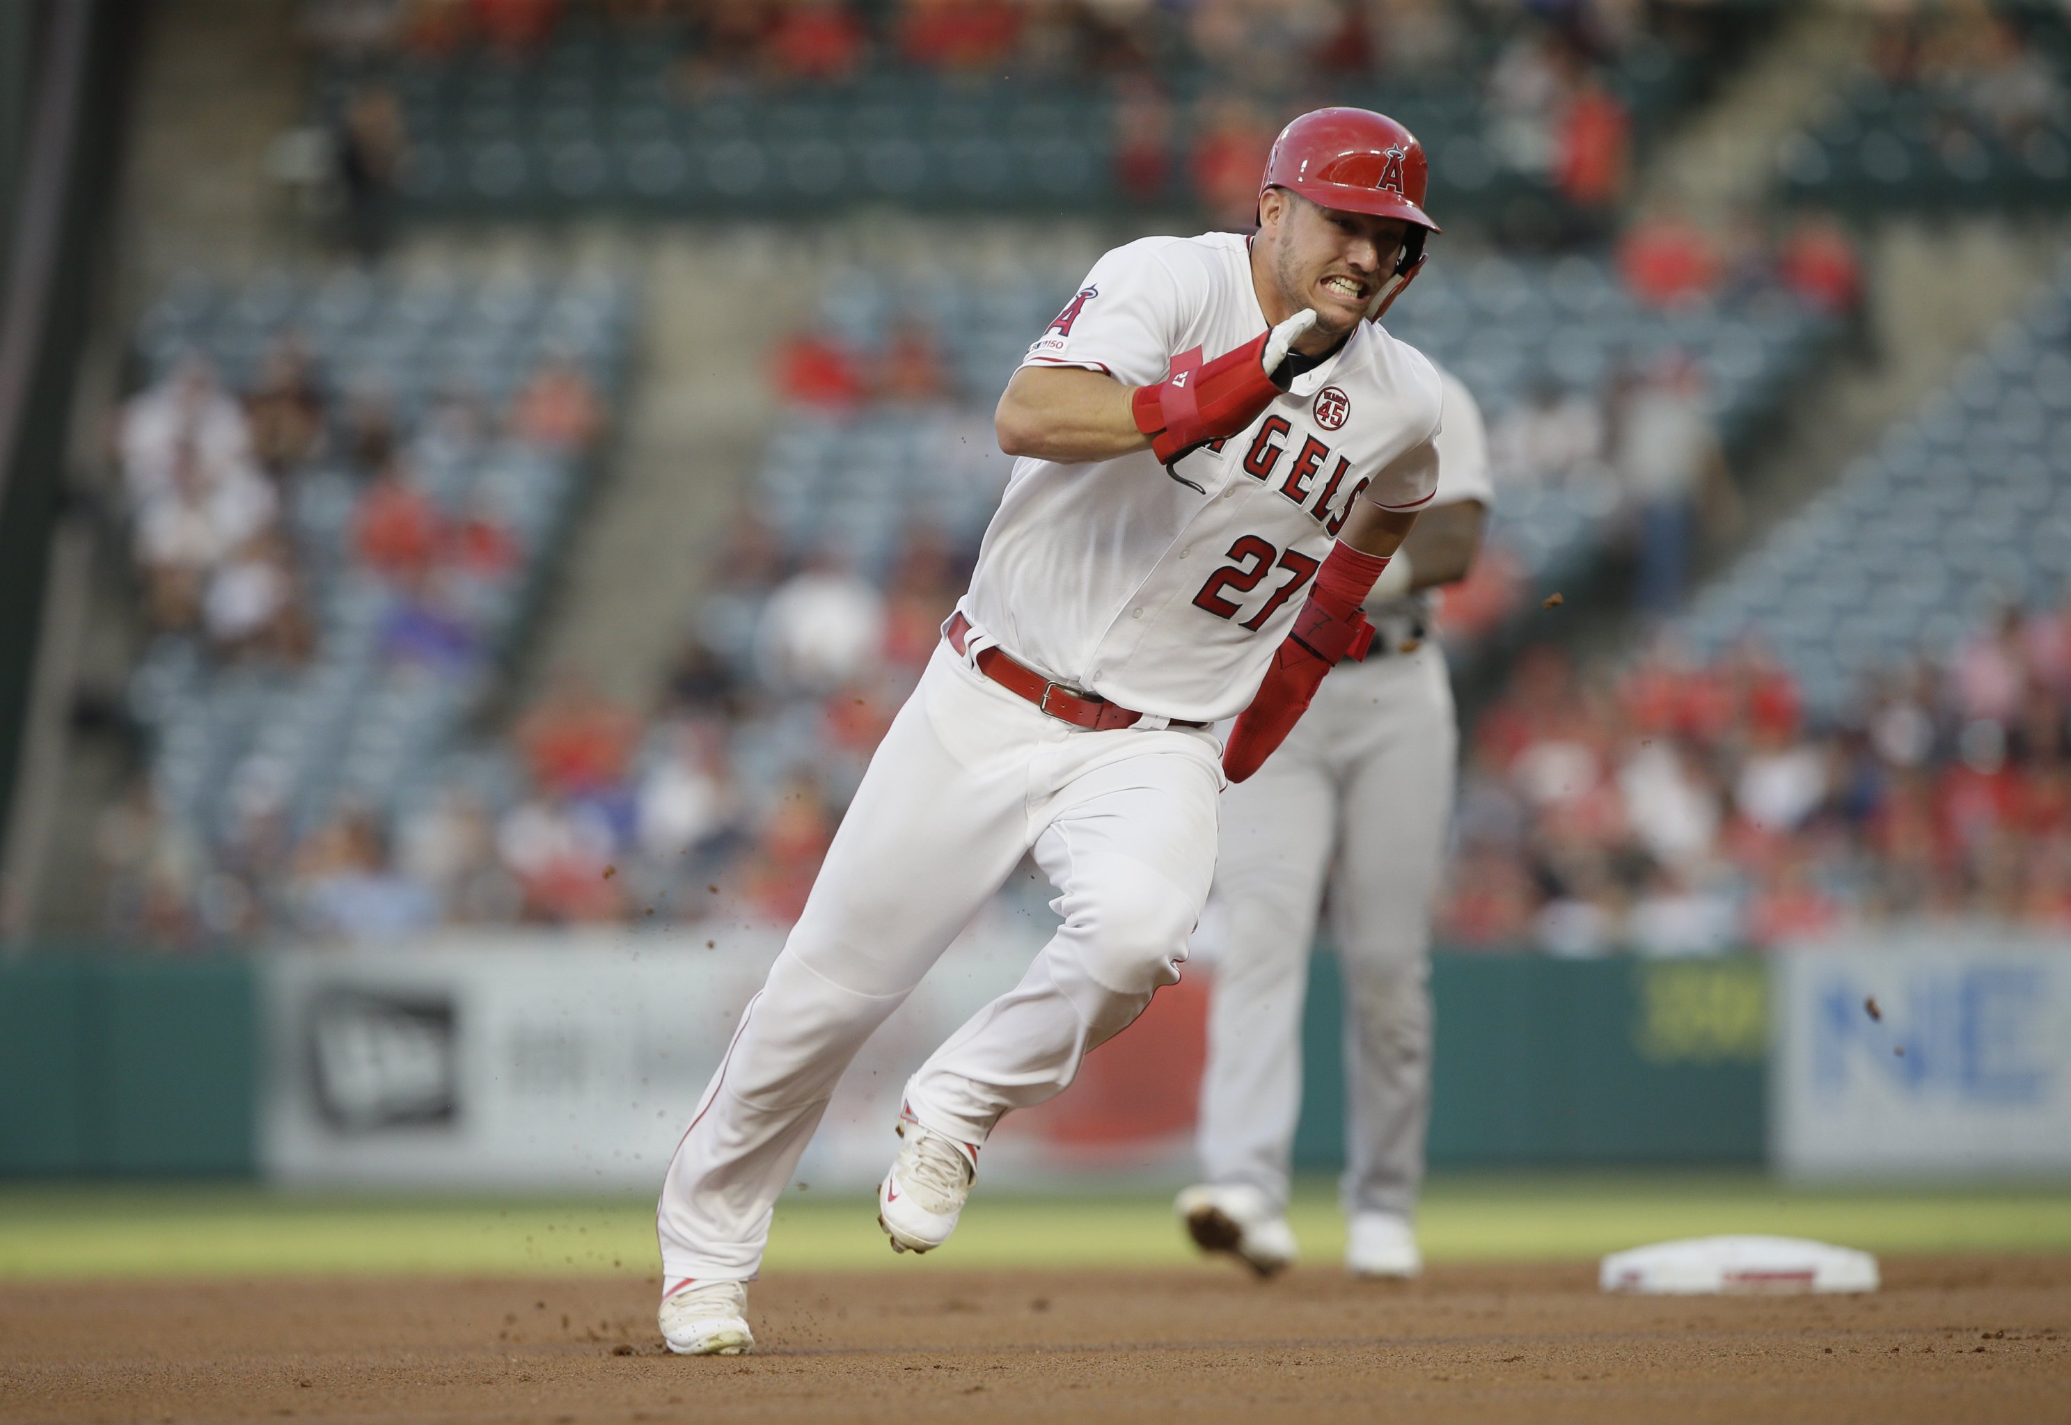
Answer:
<svg viewBox="0 0 2071 1425"><path fill-rule="evenodd" d="M2071 1172L2065 949L1439 955L1431 1162ZM648 1189L775 951L775 934L572 934L0 961L0 1174ZM905 1075L1031 951L1000 928L961 942L847 1075L799 1176L872 1181ZM1344 1141L1330 955L1311 984L1296 1160L1330 1168ZM1069 1094L1011 1118L988 1162L1036 1185L1185 1179L1207 986L1197 967L1162 990Z"/></svg>

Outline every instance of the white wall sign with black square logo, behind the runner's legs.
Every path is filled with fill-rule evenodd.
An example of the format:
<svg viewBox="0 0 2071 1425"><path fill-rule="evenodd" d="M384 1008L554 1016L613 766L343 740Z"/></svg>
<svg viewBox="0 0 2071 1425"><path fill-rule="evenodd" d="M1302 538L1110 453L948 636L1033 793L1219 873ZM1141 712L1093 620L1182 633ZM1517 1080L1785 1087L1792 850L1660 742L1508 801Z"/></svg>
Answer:
<svg viewBox="0 0 2071 1425"><path fill-rule="evenodd" d="M710 940L710 944L708 944ZM779 932L437 936L263 961L261 1162L304 1185L661 1189ZM876 1183L922 1058L1038 934L969 934L864 1046L799 1179Z"/></svg>

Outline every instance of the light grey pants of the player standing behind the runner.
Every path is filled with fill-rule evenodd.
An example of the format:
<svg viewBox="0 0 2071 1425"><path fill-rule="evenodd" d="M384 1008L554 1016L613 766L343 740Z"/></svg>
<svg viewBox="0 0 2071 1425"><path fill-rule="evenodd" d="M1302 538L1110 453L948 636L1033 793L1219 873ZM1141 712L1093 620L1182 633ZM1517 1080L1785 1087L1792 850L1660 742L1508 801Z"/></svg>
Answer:
<svg viewBox="0 0 2071 1425"><path fill-rule="evenodd" d="M1309 949L1330 884L1344 976L1344 1210L1408 1216L1431 1112L1431 899L1452 816L1452 684L1435 640L1340 663L1286 744L1222 795L1222 961L1199 1152L1286 1208Z"/></svg>

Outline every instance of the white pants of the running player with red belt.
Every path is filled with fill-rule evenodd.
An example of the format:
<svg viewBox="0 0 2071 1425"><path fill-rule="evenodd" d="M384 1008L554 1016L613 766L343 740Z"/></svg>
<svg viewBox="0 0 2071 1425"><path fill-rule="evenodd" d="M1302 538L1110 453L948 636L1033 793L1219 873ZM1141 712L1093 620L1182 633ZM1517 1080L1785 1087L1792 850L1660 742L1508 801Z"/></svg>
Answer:
<svg viewBox="0 0 2071 1425"><path fill-rule="evenodd" d="M1214 876L1220 785L1205 729L1075 729L940 646L669 1162L663 1272L756 1274L841 1071L1031 849L1064 924L920 1067L907 1108L982 1143L1002 1112L1069 1085L1178 980Z"/></svg>

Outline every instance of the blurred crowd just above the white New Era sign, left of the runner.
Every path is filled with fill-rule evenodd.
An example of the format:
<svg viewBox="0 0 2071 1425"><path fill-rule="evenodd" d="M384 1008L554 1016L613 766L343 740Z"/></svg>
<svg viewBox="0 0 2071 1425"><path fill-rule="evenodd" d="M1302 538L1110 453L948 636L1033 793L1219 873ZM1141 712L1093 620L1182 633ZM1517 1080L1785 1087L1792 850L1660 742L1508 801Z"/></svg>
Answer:
<svg viewBox="0 0 2071 1425"><path fill-rule="evenodd" d="M116 928L389 938L437 926L789 924L841 810L920 677L967 553L915 530L882 580L830 553L787 557L750 518L659 706L549 677L489 756L400 808L346 806L271 864L186 849L147 905L174 831L139 797L110 814ZM128 870L130 874L122 874ZM232 907L228 924L211 922Z"/></svg>

